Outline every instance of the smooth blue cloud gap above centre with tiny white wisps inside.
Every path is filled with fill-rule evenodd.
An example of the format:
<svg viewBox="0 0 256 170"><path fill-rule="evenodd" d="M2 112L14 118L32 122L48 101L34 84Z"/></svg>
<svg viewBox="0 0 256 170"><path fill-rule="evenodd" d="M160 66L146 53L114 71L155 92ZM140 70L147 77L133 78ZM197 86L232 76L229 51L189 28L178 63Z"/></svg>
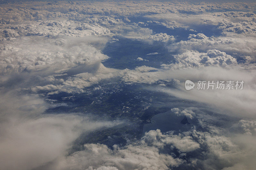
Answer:
<svg viewBox="0 0 256 170"><path fill-rule="evenodd" d="M134 69L143 65L160 68L161 64L173 63L174 58L167 50L163 42L153 42L115 37L119 41L108 42L102 53L110 58L103 61L105 67L115 69ZM158 53L156 55L147 55L149 53ZM137 58L143 58L143 61Z"/></svg>

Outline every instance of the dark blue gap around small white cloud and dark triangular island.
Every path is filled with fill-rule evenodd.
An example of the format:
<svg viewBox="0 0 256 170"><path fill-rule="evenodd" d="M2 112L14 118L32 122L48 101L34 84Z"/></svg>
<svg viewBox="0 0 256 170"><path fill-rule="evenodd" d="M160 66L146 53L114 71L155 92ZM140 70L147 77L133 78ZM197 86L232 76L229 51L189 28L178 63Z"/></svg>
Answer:
<svg viewBox="0 0 256 170"><path fill-rule="evenodd" d="M179 134L189 131L193 128L196 128L197 131L207 132L208 129L203 128L198 122L198 118L200 117L204 117L205 120L208 119L208 121L213 123L216 127L224 129L230 129L230 127L235 122L240 120L237 117L232 117L212 111L211 107L202 103L189 100L182 101L173 97L167 97L165 100L168 101L165 103L166 107L177 107L181 110L182 108L186 108L188 110L194 111L196 115L194 115L193 118L187 117L190 124L181 124L181 120L184 118L184 115L175 115L175 113L170 109L166 112L154 115L151 118L151 122L149 124L144 124L142 133L148 132L149 130L160 129L161 132L174 131L174 134Z"/></svg>

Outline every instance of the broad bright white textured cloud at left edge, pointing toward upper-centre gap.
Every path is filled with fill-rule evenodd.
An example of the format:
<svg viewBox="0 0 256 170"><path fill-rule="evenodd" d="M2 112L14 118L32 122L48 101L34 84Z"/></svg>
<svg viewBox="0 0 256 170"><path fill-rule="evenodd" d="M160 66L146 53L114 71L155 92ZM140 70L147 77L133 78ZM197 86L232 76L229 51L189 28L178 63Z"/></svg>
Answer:
<svg viewBox="0 0 256 170"><path fill-rule="evenodd" d="M73 44L70 44L68 40L60 40L64 43L62 46L56 45L54 40L32 36L22 37L11 43L5 42L0 48L1 74L24 71L39 72L44 69L61 70L77 65L100 62L108 58L108 56L101 54L99 50L88 44L88 41L93 40L92 37L77 40L69 39L69 42L73 42ZM95 40L98 43L100 41L104 43L105 41L104 38ZM27 45L22 43L23 41L34 43ZM53 65L54 67L51 67Z"/></svg>

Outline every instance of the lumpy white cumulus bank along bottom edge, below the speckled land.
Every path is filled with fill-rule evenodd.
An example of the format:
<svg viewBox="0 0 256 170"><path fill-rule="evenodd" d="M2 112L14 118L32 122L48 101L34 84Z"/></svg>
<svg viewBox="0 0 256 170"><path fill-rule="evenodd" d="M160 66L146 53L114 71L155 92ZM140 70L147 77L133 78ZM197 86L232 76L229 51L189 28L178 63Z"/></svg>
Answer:
<svg viewBox="0 0 256 170"><path fill-rule="evenodd" d="M58 160L50 169L169 169L184 162L169 154L159 153L161 148L169 145L177 147L181 152L199 148L199 144L191 137L163 134L157 129L146 132L140 141L124 148L114 145L114 150L110 150L103 144L84 144L85 150Z"/></svg>

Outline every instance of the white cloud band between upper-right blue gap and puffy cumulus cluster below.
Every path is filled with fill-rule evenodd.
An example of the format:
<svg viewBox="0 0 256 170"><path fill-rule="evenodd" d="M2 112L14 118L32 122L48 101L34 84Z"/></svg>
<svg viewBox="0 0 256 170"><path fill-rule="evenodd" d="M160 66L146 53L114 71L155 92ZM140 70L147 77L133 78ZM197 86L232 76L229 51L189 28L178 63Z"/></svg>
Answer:
<svg viewBox="0 0 256 170"><path fill-rule="evenodd" d="M246 36L223 36L223 37L207 37L202 33L189 34L188 41L180 41L169 46L169 50L178 53L187 50L196 50L205 52L209 49L216 49L226 52L230 55L235 55L240 60L255 61L254 55L254 38L247 38ZM246 56L250 56L246 58Z"/></svg>

